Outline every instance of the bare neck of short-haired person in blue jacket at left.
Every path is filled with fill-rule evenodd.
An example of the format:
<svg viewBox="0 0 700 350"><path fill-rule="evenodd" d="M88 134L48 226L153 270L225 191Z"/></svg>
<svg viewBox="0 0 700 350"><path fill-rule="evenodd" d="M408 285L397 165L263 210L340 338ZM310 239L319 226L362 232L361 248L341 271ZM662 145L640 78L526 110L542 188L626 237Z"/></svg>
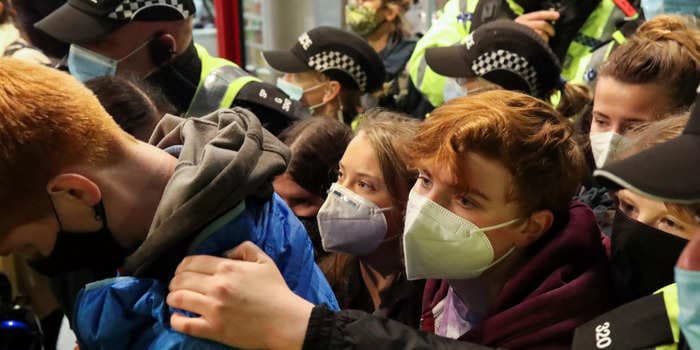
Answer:
<svg viewBox="0 0 700 350"><path fill-rule="evenodd" d="M98 174L109 229L123 247L146 239L177 159L149 144L126 147L124 161Z"/></svg>

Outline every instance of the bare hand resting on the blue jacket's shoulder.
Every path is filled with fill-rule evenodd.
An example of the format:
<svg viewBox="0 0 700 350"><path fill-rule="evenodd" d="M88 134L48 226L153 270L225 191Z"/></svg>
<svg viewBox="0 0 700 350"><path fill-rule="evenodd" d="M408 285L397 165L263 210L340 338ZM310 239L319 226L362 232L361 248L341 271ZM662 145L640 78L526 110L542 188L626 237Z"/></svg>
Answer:
<svg viewBox="0 0 700 350"><path fill-rule="evenodd" d="M239 348L301 349L313 304L289 290L274 261L253 243L226 256L180 263L167 303L201 317L173 314L173 329Z"/></svg>

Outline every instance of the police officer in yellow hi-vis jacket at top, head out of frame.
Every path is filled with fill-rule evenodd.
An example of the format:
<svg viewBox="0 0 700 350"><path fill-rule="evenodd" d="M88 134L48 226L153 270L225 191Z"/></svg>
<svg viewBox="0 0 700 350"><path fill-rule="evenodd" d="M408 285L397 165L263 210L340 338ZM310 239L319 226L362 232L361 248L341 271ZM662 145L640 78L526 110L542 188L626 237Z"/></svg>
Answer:
<svg viewBox="0 0 700 350"><path fill-rule="evenodd" d="M416 45L408 63L411 80L431 104L442 104L447 78L428 67L425 50L463 43L482 24L508 18L549 41L562 62L562 77L590 84L597 77L597 66L612 49L607 45L624 42L621 29L640 18L638 4L639 0L450 0ZM593 57L598 49L598 56Z"/></svg>

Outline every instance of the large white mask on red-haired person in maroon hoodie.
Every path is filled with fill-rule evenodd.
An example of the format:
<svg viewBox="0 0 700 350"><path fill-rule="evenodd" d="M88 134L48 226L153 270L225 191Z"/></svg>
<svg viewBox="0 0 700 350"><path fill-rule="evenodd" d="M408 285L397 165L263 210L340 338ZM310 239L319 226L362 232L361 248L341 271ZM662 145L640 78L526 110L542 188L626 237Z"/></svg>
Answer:
<svg viewBox="0 0 700 350"><path fill-rule="evenodd" d="M515 248L494 261L485 232L520 219L479 228L471 221L411 191L406 206L403 245L406 277L468 279L481 275L505 259Z"/></svg>

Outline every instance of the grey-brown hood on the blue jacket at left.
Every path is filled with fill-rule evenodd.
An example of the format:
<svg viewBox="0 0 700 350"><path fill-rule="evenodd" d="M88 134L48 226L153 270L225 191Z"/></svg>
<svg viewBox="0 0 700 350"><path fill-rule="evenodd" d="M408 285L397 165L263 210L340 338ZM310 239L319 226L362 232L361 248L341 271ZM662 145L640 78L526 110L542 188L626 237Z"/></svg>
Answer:
<svg viewBox="0 0 700 350"><path fill-rule="evenodd" d="M272 179L290 158L289 149L242 108L201 118L166 115L150 143L180 152L146 240L125 261L125 272L136 276L167 277L208 224L248 197L271 198Z"/></svg>

